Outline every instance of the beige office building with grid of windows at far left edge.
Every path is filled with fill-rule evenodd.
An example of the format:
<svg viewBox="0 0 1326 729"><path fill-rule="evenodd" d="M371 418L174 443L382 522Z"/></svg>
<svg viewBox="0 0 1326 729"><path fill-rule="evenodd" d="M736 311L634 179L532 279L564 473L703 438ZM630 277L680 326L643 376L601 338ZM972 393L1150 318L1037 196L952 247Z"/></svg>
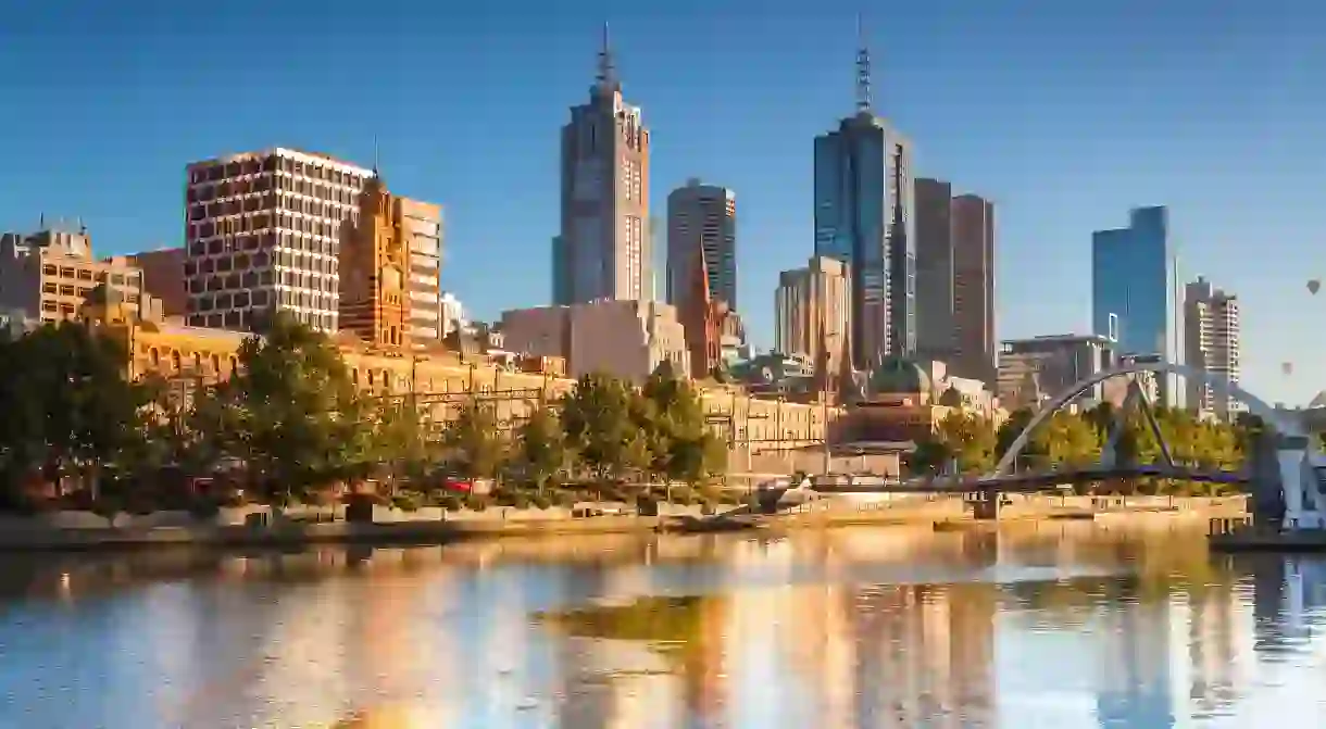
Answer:
<svg viewBox="0 0 1326 729"><path fill-rule="evenodd" d="M142 272L123 256L97 260L85 229L0 235L0 310L32 322L73 319L102 284L129 313L159 318L160 304L143 296Z"/></svg>

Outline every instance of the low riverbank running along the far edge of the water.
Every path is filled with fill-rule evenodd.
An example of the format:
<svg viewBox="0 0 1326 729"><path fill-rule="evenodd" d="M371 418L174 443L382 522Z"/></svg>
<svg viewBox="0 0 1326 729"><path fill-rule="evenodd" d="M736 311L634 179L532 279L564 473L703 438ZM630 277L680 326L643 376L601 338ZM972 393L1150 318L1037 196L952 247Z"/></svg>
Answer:
<svg viewBox="0 0 1326 729"><path fill-rule="evenodd" d="M1154 505L1107 504L1098 509L1065 506L1062 500L1041 506L1030 502L1006 512L994 522L980 522L960 498L924 498L911 502L853 505L815 502L780 514L757 517L768 529L829 529L841 526L960 526L964 524L1016 524L1036 521L1095 520L1099 522L1199 521L1228 512L1223 500L1188 500L1183 508L1158 510ZM663 517L697 516L678 508ZM89 522L62 514L61 521L7 517L0 524L0 551L89 551L130 550L166 546L217 549L296 549L318 543L361 543L382 546L446 545L468 539L507 537L561 537L575 534L639 534L654 532L660 517L594 516L572 517L549 510L495 510L479 517L400 518L373 524L329 521L305 522L289 518L260 524L198 522L184 518L146 518L139 524L111 525ZM77 526L76 526L77 525ZM944 526L940 526L944 528Z"/></svg>

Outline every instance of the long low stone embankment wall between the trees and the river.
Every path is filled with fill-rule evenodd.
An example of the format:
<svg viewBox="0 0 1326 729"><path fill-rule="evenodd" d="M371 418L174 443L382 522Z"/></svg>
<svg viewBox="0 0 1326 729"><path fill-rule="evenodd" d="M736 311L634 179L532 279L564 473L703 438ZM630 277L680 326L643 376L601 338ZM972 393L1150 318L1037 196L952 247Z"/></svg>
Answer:
<svg viewBox="0 0 1326 729"><path fill-rule="evenodd" d="M582 509L586 505L577 505ZM623 504L587 505L601 516L577 517L572 509L491 508L483 512L444 512L424 508L400 512L375 508L373 524L343 521L339 508L265 506L223 509L215 520L200 521L186 512L122 514L115 520L60 512L41 517L0 517L0 550L97 550L162 545L215 547L305 543L438 545L495 537L562 534L618 534L654 530L660 518L700 517L699 508L670 506L662 517L635 516ZM1246 513L1244 497L1013 497L1000 521L1053 518L1211 520ZM770 528L833 528L851 525L934 525L971 522L972 510L951 496L908 496L890 501L821 498L784 513L761 517Z"/></svg>

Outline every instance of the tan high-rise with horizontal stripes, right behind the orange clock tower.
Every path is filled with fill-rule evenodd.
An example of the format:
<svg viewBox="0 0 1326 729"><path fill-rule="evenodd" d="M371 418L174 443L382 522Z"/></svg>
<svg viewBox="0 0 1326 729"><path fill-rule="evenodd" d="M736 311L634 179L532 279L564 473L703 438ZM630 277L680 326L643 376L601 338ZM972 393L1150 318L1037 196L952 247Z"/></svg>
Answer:
<svg viewBox="0 0 1326 729"><path fill-rule="evenodd" d="M416 343L446 337L442 322L442 207L395 197L392 209L410 249L410 335Z"/></svg>

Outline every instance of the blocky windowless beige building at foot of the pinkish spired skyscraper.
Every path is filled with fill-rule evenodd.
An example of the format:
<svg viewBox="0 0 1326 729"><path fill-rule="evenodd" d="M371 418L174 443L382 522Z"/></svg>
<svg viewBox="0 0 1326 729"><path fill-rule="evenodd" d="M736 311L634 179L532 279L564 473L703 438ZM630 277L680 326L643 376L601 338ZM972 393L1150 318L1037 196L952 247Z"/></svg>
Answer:
<svg viewBox="0 0 1326 729"><path fill-rule="evenodd" d="M509 351L566 358L578 378L603 372L643 383L664 361L691 371L686 330L676 308L651 301L594 301L573 306L516 309L501 315Z"/></svg>

